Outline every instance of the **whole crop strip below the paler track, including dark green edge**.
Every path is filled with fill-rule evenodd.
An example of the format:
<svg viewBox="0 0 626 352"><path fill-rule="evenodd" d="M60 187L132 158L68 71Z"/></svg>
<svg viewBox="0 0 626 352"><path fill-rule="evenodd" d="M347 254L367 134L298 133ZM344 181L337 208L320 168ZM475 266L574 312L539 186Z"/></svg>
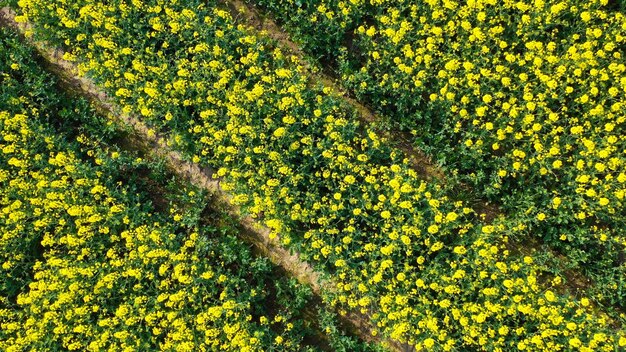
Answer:
<svg viewBox="0 0 626 352"><path fill-rule="evenodd" d="M0 29L0 349L313 351L326 328L368 349L32 57Z"/></svg>

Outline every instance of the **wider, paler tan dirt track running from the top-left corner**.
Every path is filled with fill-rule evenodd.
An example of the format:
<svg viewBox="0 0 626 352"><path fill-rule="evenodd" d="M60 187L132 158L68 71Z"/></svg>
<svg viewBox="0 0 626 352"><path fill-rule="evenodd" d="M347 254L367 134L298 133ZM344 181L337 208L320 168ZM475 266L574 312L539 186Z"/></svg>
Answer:
<svg viewBox="0 0 626 352"><path fill-rule="evenodd" d="M214 171L210 168L201 168L197 164L186 161L181 153L172 150L168 139L155 133L145 123L135 116L121 112L121 109L101 90L91 79L78 75L75 63L63 59L64 52L53 48L48 43L38 41L28 32L32 30L30 23L15 21L16 13L9 7L0 8L0 26L8 26L17 30L29 44L36 48L46 61L47 68L62 81L73 87L76 93L87 98L92 106L105 116L111 116L116 123L132 128L133 134L140 141L132 141L141 145L146 152L162 158L172 172L193 185L208 190L213 195L216 208L238 219L241 231L239 237L254 246L259 255L270 259L272 263L281 267L287 275L294 277L301 284L311 287L316 300L321 302L323 291L332 291L333 282L322 277L309 263L300 259L298 253L290 253L280 244L280 238L270 238L270 229L260 224L250 216L241 213L240 209L231 203L231 196L222 190L219 179L213 177ZM307 316L314 316L317 312L304 312ZM372 334L375 327L369 317L360 312L349 311L340 315L342 323L348 331L368 342L382 343L395 351L407 351L405 344L391 340L384 340L379 335Z"/></svg>

